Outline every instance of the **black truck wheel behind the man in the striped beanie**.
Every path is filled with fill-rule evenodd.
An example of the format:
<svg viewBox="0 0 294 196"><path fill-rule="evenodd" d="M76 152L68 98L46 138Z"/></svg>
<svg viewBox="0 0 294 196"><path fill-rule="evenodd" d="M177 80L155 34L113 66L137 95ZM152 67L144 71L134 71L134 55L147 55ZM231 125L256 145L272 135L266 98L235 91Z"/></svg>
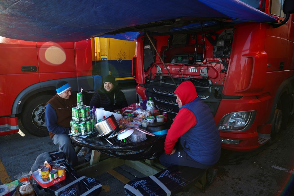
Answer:
<svg viewBox="0 0 294 196"><path fill-rule="evenodd" d="M21 124L30 134L45 137L49 132L45 123L45 105L53 95L42 95L25 104L21 112Z"/></svg>

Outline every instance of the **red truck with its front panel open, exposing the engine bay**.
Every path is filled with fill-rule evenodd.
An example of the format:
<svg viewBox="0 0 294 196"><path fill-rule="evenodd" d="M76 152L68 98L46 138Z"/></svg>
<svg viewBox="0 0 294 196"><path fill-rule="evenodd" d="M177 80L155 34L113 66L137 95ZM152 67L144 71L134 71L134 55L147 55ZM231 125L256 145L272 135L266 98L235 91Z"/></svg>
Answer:
<svg viewBox="0 0 294 196"><path fill-rule="evenodd" d="M235 151L274 142L294 113L294 16L283 13L281 1L244 2L278 21L289 20L145 29L150 39L146 33L137 38L133 58L141 101L152 97L171 121L179 111L176 86L192 81L213 113L222 148Z"/></svg>

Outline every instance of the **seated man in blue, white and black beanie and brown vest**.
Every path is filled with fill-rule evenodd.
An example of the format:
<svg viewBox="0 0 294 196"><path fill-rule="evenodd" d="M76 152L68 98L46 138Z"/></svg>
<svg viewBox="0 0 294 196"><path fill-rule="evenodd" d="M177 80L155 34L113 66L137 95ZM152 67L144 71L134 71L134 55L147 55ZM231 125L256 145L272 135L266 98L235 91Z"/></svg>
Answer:
<svg viewBox="0 0 294 196"><path fill-rule="evenodd" d="M59 149L66 154L66 159L72 166L78 165L70 133L71 108L77 106L76 96L71 96L71 86L66 81L58 81L56 94L45 107L45 123L50 138Z"/></svg>

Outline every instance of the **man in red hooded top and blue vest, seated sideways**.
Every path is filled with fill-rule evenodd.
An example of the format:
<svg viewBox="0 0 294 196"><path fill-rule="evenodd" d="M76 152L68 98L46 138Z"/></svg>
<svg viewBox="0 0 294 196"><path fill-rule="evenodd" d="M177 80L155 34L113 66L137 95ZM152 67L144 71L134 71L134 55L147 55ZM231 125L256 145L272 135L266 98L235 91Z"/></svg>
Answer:
<svg viewBox="0 0 294 196"><path fill-rule="evenodd" d="M199 97L191 81L182 82L174 91L179 105L164 143L162 165L212 168L220 158L220 134L207 104ZM183 149L175 149L179 140ZM215 174L215 170L210 170Z"/></svg>

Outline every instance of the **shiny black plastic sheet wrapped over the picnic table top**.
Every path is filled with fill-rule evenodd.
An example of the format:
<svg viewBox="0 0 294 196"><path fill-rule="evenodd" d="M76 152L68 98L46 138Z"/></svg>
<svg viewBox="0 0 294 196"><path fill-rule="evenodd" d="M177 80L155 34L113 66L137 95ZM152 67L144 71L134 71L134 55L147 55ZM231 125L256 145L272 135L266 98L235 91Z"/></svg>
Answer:
<svg viewBox="0 0 294 196"><path fill-rule="evenodd" d="M86 138L70 136L78 146L86 146L109 156L124 160L150 160L155 159L164 152L164 140L166 135L147 135L147 139L140 142L132 142L126 138L126 142L116 137L108 139L97 137L97 134Z"/></svg>

